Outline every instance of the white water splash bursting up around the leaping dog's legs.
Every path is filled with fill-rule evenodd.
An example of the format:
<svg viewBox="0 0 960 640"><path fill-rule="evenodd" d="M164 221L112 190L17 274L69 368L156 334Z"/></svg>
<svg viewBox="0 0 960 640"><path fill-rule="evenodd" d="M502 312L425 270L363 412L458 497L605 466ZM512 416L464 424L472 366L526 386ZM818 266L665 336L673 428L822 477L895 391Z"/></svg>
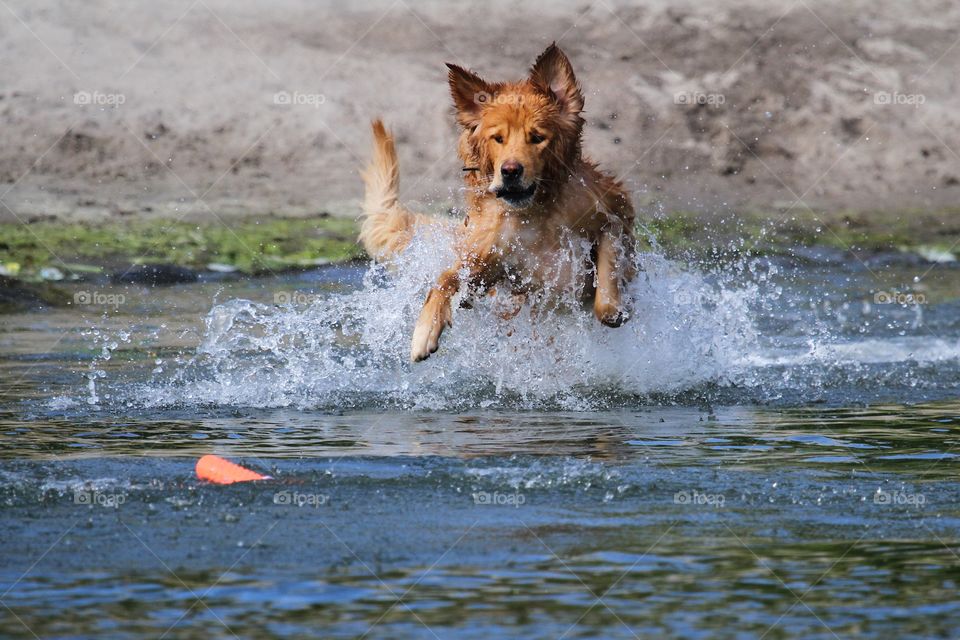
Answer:
<svg viewBox="0 0 960 640"><path fill-rule="evenodd" d="M452 262L449 245L417 238L395 269L371 267L351 293L219 304L196 356L138 395L154 406L591 409L623 395L726 384L756 351L755 284L734 286L736 273L707 277L641 253L626 292L633 317L620 328L598 323L569 291L558 294L564 308L525 305L506 320L498 311L508 301L498 294L456 310L440 351L412 364L413 323ZM581 263L581 248L565 251Z"/></svg>

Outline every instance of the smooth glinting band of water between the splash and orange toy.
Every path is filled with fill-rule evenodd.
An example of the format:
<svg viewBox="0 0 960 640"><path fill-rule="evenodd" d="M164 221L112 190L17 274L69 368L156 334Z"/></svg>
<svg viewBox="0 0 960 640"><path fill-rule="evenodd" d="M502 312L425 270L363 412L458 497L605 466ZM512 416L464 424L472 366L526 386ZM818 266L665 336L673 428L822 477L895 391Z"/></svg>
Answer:
<svg viewBox="0 0 960 640"><path fill-rule="evenodd" d="M0 459L103 456L577 456L629 463L750 468L784 462L895 471L960 453L960 404L863 409L683 407L584 413L366 413L287 409L209 417L156 415L18 420L0 413ZM220 414L220 415L216 415ZM886 464L896 462L895 465ZM937 465L939 467L939 465ZM934 473L950 472L950 465Z"/></svg>

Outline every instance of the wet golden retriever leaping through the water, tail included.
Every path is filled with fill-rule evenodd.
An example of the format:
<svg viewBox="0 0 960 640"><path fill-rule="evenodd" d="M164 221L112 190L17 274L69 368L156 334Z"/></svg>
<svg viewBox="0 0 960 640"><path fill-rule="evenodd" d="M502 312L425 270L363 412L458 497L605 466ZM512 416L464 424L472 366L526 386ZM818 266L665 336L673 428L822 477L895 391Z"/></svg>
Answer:
<svg viewBox="0 0 960 640"><path fill-rule="evenodd" d="M461 285L470 295L502 286L521 303L544 288L580 287L597 320L620 326L629 315L621 292L634 277L633 206L622 185L581 153L583 94L567 56L550 45L519 82L491 83L447 67L461 128L466 217L456 231L456 264L440 275L420 312L411 359L437 350L453 325L451 303ZM373 136L360 241L374 259L389 261L418 226L443 222L398 202L393 137L379 120ZM585 264L560 255L564 238L589 243Z"/></svg>

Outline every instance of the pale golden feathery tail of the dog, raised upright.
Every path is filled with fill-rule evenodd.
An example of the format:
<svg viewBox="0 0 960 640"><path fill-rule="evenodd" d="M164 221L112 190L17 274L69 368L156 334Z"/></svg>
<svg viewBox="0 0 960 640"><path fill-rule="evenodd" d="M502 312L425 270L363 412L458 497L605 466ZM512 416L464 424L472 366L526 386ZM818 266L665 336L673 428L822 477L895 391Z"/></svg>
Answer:
<svg viewBox="0 0 960 640"><path fill-rule="evenodd" d="M361 214L360 242L367 254L388 261L403 251L418 224L434 222L430 216L413 213L399 201L400 167L393 135L380 120L373 121L373 159L363 171L366 195Z"/></svg>

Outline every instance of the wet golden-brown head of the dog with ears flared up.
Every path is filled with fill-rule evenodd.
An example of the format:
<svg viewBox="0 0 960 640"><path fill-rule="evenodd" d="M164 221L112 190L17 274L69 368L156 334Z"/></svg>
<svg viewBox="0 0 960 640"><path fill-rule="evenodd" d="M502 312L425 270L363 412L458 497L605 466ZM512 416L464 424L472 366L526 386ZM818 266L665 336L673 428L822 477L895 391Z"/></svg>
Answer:
<svg viewBox="0 0 960 640"><path fill-rule="evenodd" d="M460 153L488 191L523 208L569 177L580 158L583 94L556 44L521 82L489 83L448 64L450 92L463 127Z"/></svg>

